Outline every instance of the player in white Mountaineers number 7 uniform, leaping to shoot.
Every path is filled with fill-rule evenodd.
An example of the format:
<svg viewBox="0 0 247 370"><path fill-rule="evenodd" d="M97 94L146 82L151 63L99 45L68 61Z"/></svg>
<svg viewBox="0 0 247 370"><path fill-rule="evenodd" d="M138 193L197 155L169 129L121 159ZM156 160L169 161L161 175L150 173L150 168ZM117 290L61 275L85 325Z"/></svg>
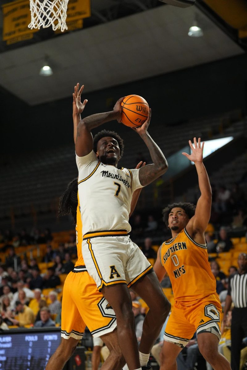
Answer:
<svg viewBox="0 0 247 370"><path fill-rule="evenodd" d="M81 89L76 91L79 105ZM147 132L151 112L135 131L147 145L153 164L141 169L117 168L123 142L116 132L101 131L94 139L91 129L111 120L121 121L121 101L113 111L74 120L78 192L81 204L82 253L89 274L113 307L117 317L121 351L130 370L147 369L150 350L170 311L153 268L128 233L133 192L150 184L168 168L166 158ZM139 355L128 287L150 310L143 325ZM139 359L140 357L140 359Z"/></svg>

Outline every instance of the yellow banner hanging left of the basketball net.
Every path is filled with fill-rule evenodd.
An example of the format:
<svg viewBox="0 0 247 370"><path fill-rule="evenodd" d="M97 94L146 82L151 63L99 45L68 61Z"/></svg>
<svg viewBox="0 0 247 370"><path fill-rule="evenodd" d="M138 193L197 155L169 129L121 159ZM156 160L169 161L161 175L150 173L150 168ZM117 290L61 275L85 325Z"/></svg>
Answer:
<svg viewBox="0 0 247 370"><path fill-rule="evenodd" d="M73 1L73 0L72 0ZM20 36L33 34L39 30L30 30L27 26L31 22L30 1L18 0L2 5L3 9L3 40L17 40ZM20 38L20 40L19 40ZM14 41L14 42L17 42Z"/></svg>

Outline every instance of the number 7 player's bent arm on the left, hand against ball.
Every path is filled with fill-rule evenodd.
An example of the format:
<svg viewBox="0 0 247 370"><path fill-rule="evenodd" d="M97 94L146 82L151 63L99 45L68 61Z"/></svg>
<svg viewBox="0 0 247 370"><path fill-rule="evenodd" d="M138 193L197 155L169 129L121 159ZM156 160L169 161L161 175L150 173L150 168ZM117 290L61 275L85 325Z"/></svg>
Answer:
<svg viewBox="0 0 247 370"><path fill-rule="evenodd" d="M76 135L76 154L79 157L89 154L93 150L93 135L91 129L96 128L103 123L117 120L121 122L121 101L119 99L111 112L98 113L83 118L77 126Z"/></svg>

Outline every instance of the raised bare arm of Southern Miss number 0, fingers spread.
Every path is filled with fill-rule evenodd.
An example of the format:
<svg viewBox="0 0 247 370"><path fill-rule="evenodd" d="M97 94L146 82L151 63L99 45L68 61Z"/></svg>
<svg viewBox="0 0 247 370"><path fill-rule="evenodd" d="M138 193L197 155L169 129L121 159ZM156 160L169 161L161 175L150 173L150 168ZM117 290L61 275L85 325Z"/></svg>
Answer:
<svg viewBox="0 0 247 370"><path fill-rule="evenodd" d="M201 138L198 138L197 144L196 138L194 138L195 147L193 147L191 141L189 141L189 144L192 150L191 155L187 153L182 154L185 155L190 161L193 161L196 166L201 196L197 201L195 215L188 222L186 229L188 233L191 231L192 233L196 234L204 233L207 228L211 214L212 190L206 168L203 164L204 142L201 145Z"/></svg>

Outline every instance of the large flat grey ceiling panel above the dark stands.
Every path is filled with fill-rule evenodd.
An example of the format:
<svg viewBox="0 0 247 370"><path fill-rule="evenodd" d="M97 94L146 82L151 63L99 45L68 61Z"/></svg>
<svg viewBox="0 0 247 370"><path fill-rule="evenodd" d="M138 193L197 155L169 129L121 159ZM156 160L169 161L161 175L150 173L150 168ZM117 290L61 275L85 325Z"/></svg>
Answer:
<svg viewBox="0 0 247 370"><path fill-rule="evenodd" d="M139 1L139 12L109 21L102 10L116 2L92 1L94 17L105 17L96 26L2 51L0 85L36 105L68 97L77 81L85 92L101 90L244 53L196 7L148 8ZM195 16L204 31L200 38L187 36ZM39 75L46 55L51 77Z"/></svg>

